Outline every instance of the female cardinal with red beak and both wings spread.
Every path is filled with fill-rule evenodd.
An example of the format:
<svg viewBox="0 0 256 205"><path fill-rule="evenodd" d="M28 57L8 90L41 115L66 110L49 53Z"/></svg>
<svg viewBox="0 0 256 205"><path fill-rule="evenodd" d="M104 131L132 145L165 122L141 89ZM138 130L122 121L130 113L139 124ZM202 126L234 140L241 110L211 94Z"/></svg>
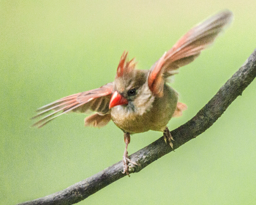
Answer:
<svg viewBox="0 0 256 205"><path fill-rule="evenodd" d="M166 127L172 116L182 115L187 108L178 102L178 95L167 85L168 77L178 73L178 68L192 62L200 52L213 42L224 26L232 20L232 12L222 11L192 28L168 52L165 52L149 70L135 69L134 58L127 60L123 52L114 82L98 89L69 95L40 107L33 118L53 111L33 124L42 127L64 113L86 112L96 114L85 118L85 126L102 127L112 119L122 129L125 138L123 173L129 175L127 146L130 133L161 131L164 140L172 147L172 136Z"/></svg>

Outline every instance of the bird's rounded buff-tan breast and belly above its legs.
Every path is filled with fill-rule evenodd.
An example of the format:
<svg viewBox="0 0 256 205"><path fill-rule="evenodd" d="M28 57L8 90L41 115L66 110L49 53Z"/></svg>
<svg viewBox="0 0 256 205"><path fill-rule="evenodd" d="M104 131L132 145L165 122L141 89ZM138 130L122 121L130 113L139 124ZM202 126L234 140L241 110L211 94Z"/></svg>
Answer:
<svg viewBox="0 0 256 205"><path fill-rule="evenodd" d="M138 104L138 103L137 103ZM164 96L148 99L139 106L115 106L111 110L112 120L125 132L140 133L148 130L163 131L172 118L177 105L177 93L164 86Z"/></svg>

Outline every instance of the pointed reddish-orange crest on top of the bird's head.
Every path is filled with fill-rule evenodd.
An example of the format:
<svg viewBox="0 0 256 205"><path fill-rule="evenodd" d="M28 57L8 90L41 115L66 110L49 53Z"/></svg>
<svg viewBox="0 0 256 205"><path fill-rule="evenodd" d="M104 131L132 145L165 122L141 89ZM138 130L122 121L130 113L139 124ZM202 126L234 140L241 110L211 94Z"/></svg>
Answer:
<svg viewBox="0 0 256 205"><path fill-rule="evenodd" d="M134 70L137 62L135 62L135 58L129 61L127 59L127 55L128 55L128 52L124 51L119 61L119 64L117 67L117 75L115 76L115 78L123 77L125 74L129 74Z"/></svg>

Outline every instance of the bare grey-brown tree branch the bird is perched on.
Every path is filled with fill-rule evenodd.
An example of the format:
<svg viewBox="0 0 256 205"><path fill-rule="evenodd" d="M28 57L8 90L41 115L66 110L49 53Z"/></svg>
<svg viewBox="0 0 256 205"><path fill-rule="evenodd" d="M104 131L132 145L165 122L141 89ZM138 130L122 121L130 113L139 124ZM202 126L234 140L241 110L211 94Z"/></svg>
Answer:
<svg viewBox="0 0 256 205"><path fill-rule="evenodd" d="M174 149L187 143L208 129L224 113L238 95L256 77L256 49L246 60L245 64L218 90L217 94L187 123L171 132L174 137ZM154 143L131 154L132 161L138 162L140 166L131 165L130 173L141 171L147 165L158 158L171 152L172 149L160 137ZM122 174L122 161L92 175L67 189L58 191L55 194L44 196L39 199L31 200L20 204L74 204L86 199L98 190L110 185L110 183L125 177Z"/></svg>

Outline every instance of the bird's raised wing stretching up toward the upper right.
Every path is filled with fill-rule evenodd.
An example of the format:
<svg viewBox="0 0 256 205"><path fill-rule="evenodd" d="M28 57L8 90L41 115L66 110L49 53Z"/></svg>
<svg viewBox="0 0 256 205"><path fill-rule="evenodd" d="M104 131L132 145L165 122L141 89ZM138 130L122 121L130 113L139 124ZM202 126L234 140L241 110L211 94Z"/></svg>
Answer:
<svg viewBox="0 0 256 205"><path fill-rule="evenodd" d="M231 11L222 11L192 28L152 65L148 74L148 87L162 97L166 78L178 73L177 69L189 64L200 52L213 43L223 28L231 22Z"/></svg>

